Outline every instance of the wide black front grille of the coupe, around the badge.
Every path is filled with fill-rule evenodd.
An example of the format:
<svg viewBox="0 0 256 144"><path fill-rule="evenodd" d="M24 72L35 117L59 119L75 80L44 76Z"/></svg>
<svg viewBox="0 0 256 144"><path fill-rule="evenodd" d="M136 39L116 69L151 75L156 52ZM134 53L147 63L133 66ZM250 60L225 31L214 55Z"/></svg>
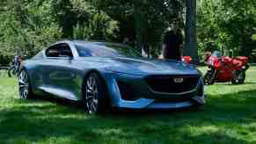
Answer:
<svg viewBox="0 0 256 144"><path fill-rule="evenodd" d="M182 83L175 82L174 79L183 78ZM181 93L194 90L200 76L147 76L145 81L151 90L165 93Z"/></svg>

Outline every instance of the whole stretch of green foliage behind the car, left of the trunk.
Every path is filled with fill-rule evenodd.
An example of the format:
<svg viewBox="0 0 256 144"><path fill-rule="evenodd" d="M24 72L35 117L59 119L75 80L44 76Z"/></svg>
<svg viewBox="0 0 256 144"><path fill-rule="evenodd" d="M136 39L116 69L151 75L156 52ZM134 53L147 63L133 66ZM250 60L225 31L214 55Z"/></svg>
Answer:
<svg viewBox="0 0 256 144"><path fill-rule="evenodd" d="M59 39L109 40L153 47L172 21L182 24L180 0L1 0L1 54L33 55Z"/></svg>

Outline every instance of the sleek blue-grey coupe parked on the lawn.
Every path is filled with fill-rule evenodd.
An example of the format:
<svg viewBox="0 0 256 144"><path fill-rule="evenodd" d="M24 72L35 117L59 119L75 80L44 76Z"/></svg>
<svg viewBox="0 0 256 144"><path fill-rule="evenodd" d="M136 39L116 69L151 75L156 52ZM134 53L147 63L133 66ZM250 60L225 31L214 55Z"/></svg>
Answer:
<svg viewBox="0 0 256 144"><path fill-rule="evenodd" d="M144 59L133 47L63 40L23 61L19 97L51 94L89 113L177 109L205 103L201 72L181 61Z"/></svg>

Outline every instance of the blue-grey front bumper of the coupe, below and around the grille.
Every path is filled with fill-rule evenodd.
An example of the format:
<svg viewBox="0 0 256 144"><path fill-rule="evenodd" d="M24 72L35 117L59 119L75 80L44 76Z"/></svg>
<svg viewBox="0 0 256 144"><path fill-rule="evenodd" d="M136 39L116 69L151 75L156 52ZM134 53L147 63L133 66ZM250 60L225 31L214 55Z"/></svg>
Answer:
<svg viewBox="0 0 256 144"><path fill-rule="evenodd" d="M179 109L205 104L204 86L201 79L196 88L199 89L201 87L202 92L200 95L198 95L197 90L191 91L190 93L185 92L186 94L168 95L155 93L150 90L143 77L144 76L130 76L126 74L106 75L108 93L112 99L113 107L128 109ZM124 99L121 96L118 81L133 84L135 88L133 92L138 97L131 100ZM180 97L182 98L180 99ZM161 100L159 101L159 99Z"/></svg>

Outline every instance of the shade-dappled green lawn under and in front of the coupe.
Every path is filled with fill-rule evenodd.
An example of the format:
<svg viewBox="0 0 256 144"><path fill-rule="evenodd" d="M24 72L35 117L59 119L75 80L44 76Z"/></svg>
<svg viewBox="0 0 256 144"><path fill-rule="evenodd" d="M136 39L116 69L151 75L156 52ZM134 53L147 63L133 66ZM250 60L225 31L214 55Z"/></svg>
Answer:
<svg viewBox="0 0 256 144"><path fill-rule="evenodd" d="M255 94L256 90L221 97L209 95L208 104L199 110L128 111L106 116L87 115L77 104L59 99L29 102L17 99L15 106L0 110L0 140L3 143L15 140L38 142L54 137L88 143L92 140L95 143L105 140L247 143L224 131L194 134L189 127L216 126L239 131L234 126L255 122Z"/></svg>

